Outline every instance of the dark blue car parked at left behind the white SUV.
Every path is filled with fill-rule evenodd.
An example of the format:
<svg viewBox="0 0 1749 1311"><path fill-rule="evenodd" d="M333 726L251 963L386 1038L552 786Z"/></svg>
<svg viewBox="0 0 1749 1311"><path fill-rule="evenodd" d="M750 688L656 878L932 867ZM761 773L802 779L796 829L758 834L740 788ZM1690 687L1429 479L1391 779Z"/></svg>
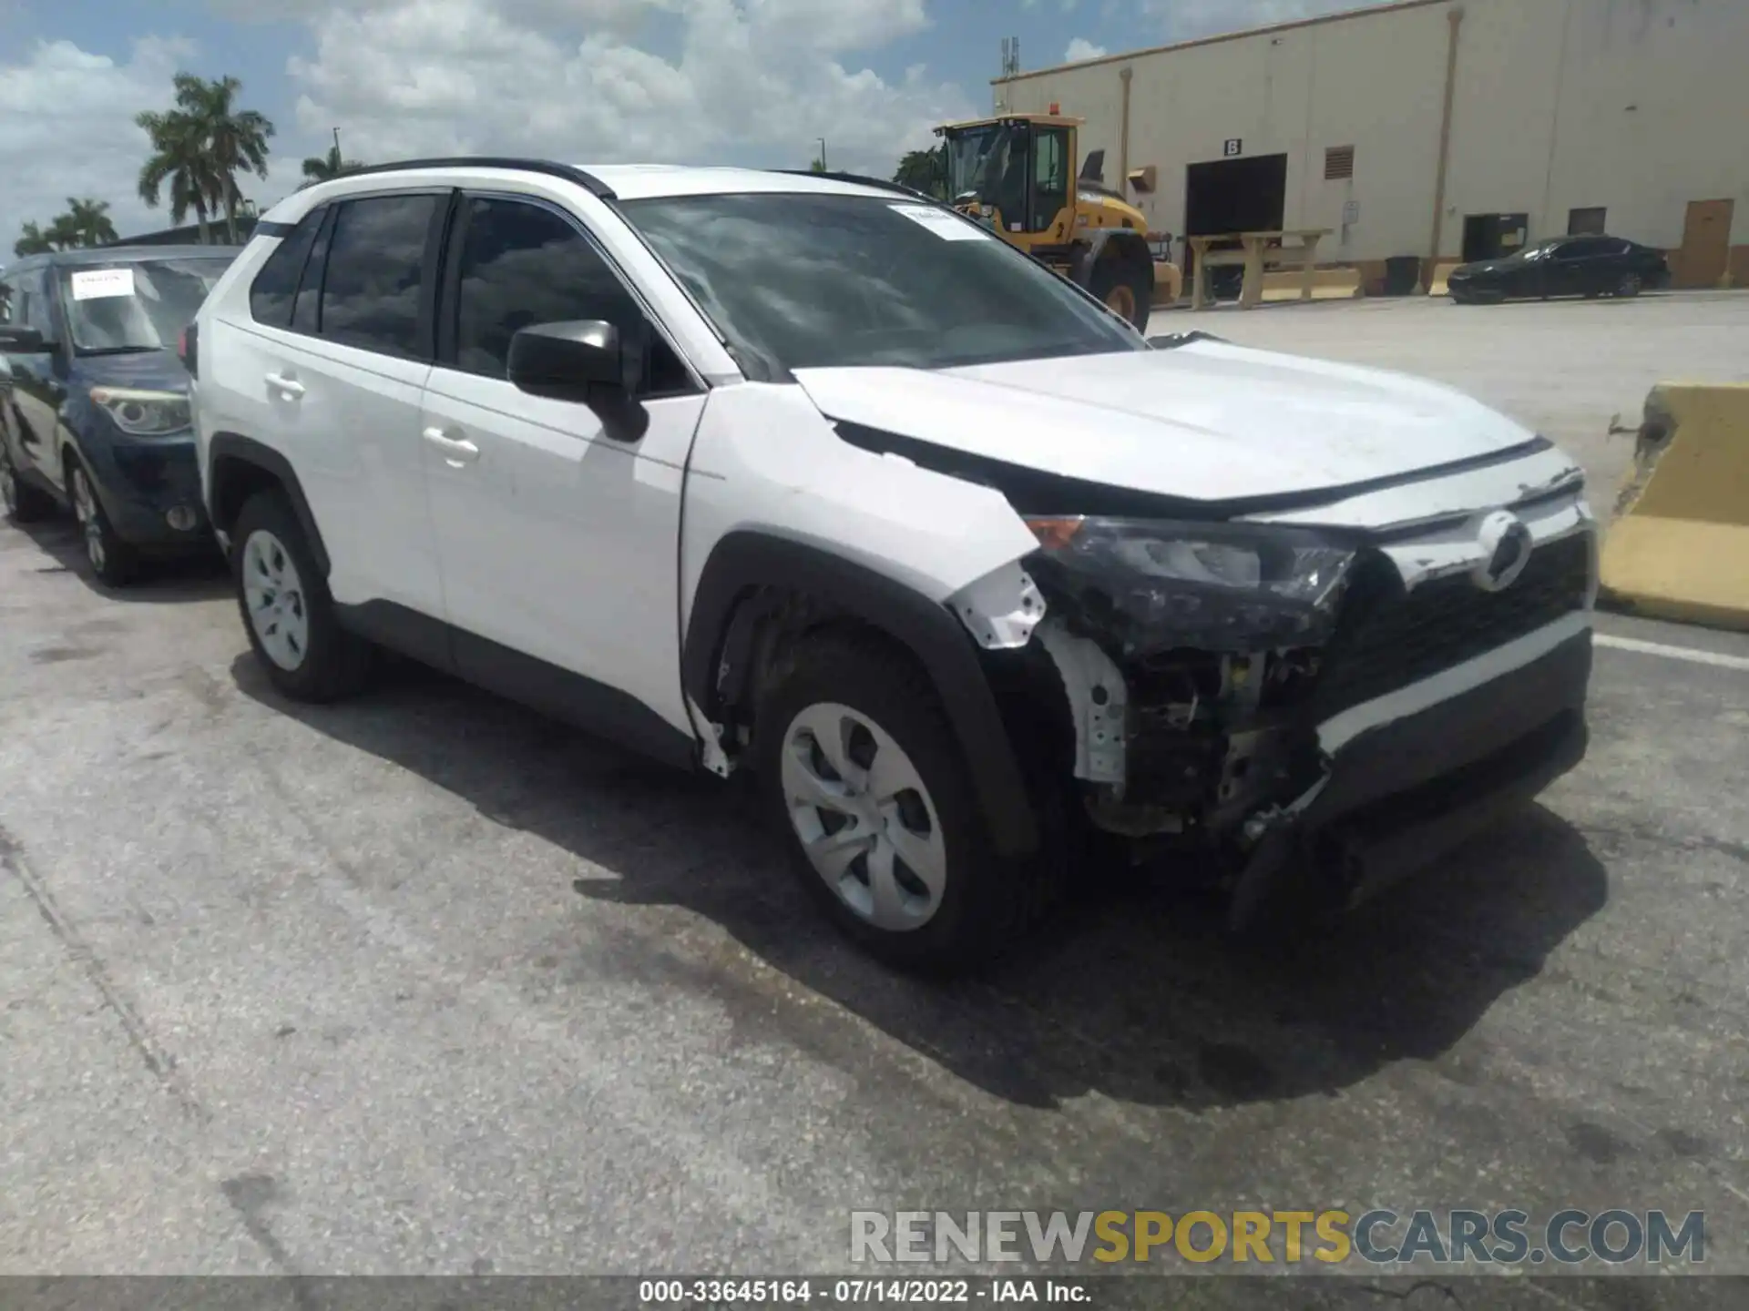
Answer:
<svg viewBox="0 0 1749 1311"><path fill-rule="evenodd" d="M233 246L31 255L0 271L0 503L70 507L96 577L205 547L182 329Z"/></svg>

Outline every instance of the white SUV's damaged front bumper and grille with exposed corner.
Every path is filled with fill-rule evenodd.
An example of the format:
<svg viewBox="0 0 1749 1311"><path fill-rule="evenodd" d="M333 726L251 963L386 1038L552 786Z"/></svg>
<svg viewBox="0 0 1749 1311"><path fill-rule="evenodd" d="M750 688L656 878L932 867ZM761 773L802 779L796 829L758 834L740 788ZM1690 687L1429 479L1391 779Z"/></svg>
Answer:
<svg viewBox="0 0 1749 1311"><path fill-rule="evenodd" d="M1527 505L1511 577L1487 572L1511 559L1488 538L1501 517L1362 547L1345 586L1249 640L1228 622L1142 629L1158 605L1098 605L1097 575L1076 591L1037 559L1049 614L1011 587L1025 628L1002 631L995 607L967 626L1049 671L1056 696L1020 687L1063 706L1053 773L1072 771L1090 822L1139 860L1228 888L1235 926L1308 898L1352 907L1585 755L1590 514L1576 489Z"/></svg>

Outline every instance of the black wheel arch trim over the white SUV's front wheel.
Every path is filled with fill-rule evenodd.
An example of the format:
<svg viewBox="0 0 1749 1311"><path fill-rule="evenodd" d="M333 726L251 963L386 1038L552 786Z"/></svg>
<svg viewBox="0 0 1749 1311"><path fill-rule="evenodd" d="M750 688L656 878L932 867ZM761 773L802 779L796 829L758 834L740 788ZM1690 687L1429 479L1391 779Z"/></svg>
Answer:
<svg viewBox="0 0 1749 1311"><path fill-rule="evenodd" d="M1030 857L1039 825L1020 759L971 636L953 614L866 565L756 530L728 533L698 579L680 654L687 697L717 713L715 671L742 601L785 587L829 601L904 643L941 697L997 851Z"/></svg>

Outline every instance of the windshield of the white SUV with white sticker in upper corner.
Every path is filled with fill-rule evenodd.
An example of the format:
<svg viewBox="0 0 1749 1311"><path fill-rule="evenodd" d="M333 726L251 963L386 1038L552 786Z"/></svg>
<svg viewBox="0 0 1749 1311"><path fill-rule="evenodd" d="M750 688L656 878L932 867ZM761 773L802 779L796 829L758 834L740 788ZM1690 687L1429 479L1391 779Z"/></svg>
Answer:
<svg viewBox="0 0 1749 1311"><path fill-rule="evenodd" d="M764 381L1147 350L1048 267L941 206L771 192L623 212Z"/></svg>

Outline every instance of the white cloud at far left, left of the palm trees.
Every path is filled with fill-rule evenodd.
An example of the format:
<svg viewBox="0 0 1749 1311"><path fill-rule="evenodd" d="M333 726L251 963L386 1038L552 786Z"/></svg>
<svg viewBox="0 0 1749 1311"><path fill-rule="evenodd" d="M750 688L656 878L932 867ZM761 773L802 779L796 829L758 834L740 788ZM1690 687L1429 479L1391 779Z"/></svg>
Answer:
<svg viewBox="0 0 1749 1311"><path fill-rule="evenodd" d="M122 236L168 225L135 194L147 140L133 117L168 103L170 77L191 54L187 42L147 38L117 63L54 40L0 63L0 262L26 220L47 224L68 196L110 201Z"/></svg>

